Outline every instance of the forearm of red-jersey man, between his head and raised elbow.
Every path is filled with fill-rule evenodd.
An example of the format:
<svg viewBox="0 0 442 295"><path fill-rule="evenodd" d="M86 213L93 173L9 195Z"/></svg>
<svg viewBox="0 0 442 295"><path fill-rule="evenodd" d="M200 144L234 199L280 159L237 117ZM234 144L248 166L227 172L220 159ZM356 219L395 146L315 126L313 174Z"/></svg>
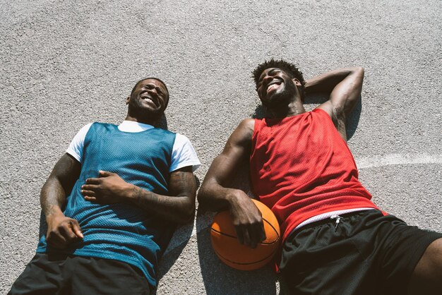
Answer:
<svg viewBox="0 0 442 295"><path fill-rule="evenodd" d="M342 82L347 76L364 71L363 68L356 66L351 68L338 68L319 76L306 80L306 92L314 94L317 92L330 93L336 85Z"/></svg>

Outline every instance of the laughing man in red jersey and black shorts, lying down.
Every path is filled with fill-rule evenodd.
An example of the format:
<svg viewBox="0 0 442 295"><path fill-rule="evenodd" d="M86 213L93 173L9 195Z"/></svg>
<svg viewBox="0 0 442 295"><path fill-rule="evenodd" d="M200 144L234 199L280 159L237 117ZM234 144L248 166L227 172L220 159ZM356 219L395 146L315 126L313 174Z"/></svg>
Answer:
<svg viewBox="0 0 442 295"><path fill-rule="evenodd" d="M358 180L345 124L364 69L304 81L296 66L272 59L253 77L265 118L241 121L213 160L199 204L228 208L240 243L265 239L257 207L229 188L246 157L253 193L280 222L279 267L292 294L441 294L442 234L382 212ZM306 112L305 92L330 97Z"/></svg>

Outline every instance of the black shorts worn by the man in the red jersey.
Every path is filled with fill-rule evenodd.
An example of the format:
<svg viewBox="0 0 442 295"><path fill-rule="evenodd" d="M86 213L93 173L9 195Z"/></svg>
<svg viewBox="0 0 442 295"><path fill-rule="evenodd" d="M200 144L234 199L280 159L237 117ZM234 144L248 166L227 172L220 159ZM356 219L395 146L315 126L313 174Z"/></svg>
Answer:
<svg viewBox="0 0 442 295"><path fill-rule="evenodd" d="M290 294L407 294L429 244L442 234L365 210L306 224L282 246L280 271Z"/></svg>

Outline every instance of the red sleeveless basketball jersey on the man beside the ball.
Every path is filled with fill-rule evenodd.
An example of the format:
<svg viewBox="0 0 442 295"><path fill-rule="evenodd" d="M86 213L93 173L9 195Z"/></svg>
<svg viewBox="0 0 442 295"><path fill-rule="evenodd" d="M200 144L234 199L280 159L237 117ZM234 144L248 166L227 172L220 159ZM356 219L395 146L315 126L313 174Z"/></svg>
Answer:
<svg viewBox="0 0 442 295"><path fill-rule="evenodd" d="M280 222L282 240L310 217L377 208L358 180L347 143L322 109L283 119L256 119L250 174L253 193Z"/></svg>

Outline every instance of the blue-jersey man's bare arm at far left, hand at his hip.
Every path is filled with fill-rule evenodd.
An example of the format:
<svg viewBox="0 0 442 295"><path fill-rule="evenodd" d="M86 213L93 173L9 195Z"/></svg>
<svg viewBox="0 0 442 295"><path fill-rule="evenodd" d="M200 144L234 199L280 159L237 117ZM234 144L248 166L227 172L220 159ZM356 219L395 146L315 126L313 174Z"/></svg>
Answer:
<svg viewBox="0 0 442 295"><path fill-rule="evenodd" d="M80 175L80 168L80 163L71 155L63 155L40 193L40 204L47 222L46 240L54 248L66 248L69 243L83 238L76 219L64 216L62 210L66 195Z"/></svg>

